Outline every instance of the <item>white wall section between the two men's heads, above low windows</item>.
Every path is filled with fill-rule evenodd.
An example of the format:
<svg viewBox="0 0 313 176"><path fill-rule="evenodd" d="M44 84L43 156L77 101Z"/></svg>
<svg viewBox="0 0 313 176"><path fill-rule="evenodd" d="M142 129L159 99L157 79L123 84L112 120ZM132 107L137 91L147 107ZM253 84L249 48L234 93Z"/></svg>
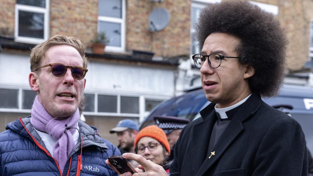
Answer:
<svg viewBox="0 0 313 176"><path fill-rule="evenodd" d="M88 64L86 90L174 95L175 70L102 62Z"/></svg>

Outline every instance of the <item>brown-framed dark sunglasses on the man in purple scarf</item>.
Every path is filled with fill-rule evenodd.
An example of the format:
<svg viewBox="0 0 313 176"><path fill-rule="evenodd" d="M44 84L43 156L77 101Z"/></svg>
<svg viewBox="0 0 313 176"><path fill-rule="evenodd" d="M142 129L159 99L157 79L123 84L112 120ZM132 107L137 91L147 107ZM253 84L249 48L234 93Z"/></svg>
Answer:
<svg viewBox="0 0 313 176"><path fill-rule="evenodd" d="M63 64L59 64L59 63L55 63L55 64L47 64L44 66L39 67L38 69L36 69L35 71L44 68L44 67L48 67L50 66L51 68L51 72L54 76L56 77L62 77L65 75L67 68L71 69L72 72L72 76L76 79L76 80L81 80L85 77L88 69L84 68L84 67L80 67L80 66L65 66ZM34 71L34 72L35 72Z"/></svg>

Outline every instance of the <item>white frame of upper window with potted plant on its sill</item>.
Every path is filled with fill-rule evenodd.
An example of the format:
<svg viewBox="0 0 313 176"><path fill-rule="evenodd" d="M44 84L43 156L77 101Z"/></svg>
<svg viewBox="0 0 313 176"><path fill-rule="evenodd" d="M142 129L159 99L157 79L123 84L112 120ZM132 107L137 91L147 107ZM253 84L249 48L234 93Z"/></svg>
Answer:
<svg viewBox="0 0 313 176"><path fill-rule="evenodd" d="M125 29L125 19L126 19L126 0L122 0L122 18L114 18L114 17L106 17L106 16L98 16L98 32L100 31L99 22L111 22L111 23L119 23L121 24L121 47L117 46L105 46L105 51L112 52L124 52L125 51L125 38L126 38L126 29Z"/></svg>

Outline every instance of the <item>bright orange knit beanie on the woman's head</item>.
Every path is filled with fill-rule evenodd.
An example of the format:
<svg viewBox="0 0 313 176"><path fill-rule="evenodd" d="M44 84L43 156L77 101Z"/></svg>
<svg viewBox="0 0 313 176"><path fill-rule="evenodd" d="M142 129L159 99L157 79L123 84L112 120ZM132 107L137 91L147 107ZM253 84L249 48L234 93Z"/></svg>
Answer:
<svg viewBox="0 0 313 176"><path fill-rule="evenodd" d="M167 141L165 132L163 132L161 128L157 127L156 125L150 125L150 126L144 127L142 130L140 130L140 132L138 132L135 138L135 143L134 143L135 147L139 139L145 136L155 138L166 148L168 153L171 153L170 144Z"/></svg>

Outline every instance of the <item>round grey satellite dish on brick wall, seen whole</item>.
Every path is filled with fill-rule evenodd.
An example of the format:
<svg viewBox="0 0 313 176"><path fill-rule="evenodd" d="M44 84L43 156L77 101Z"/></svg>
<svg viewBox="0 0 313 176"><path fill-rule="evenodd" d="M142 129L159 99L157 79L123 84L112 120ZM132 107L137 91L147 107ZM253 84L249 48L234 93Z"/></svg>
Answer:
<svg viewBox="0 0 313 176"><path fill-rule="evenodd" d="M171 15L165 8L155 8L149 16L149 30L159 32L167 27Z"/></svg>

